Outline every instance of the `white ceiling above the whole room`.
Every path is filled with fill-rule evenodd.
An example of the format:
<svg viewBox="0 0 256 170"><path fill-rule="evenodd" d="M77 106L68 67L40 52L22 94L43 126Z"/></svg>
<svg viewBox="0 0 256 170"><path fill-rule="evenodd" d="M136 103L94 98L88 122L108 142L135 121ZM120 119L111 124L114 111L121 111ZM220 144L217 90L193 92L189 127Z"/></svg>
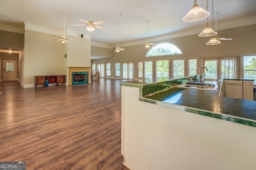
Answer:
<svg viewBox="0 0 256 170"><path fill-rule="evenodd" d="M91 40L116 46L118 31L119 44L138 40L144 43L147 39L146 21L149 21L149 40L193 28L203 29L206 20L182 20L193 3L194 0L92 0L91 19L104 21L105 24L99 26L106 30L96 28L91 33ZM206 9L206 0L198 0L198 5ZM208 11L212 27L212 0L208 0ZM0 0L0 23L11 26L22 27L23 22L27 22L63 30L62 12L66 12L66 29L88 34L86 26L72 24L84 24L78 18L90 19L90 0ZM215 12L218 12L218 23L256 16L256 0L214 0Z"/></svg>

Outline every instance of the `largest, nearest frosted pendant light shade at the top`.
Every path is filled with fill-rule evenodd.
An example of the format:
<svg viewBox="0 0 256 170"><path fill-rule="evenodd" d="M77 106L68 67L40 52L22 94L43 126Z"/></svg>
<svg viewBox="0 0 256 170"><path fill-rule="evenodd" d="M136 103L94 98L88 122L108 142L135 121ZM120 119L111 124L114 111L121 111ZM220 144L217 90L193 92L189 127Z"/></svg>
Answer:
<svg viewBox="0 0 256 170"><path fill-rule="evenodd" d="M204 20L210 16L210 12L206 11L204 8L201 8L197 1L194 0L194 6L192 6L191 10L184 16L183 21L185 22L196 22L200 20Z"/></svg>

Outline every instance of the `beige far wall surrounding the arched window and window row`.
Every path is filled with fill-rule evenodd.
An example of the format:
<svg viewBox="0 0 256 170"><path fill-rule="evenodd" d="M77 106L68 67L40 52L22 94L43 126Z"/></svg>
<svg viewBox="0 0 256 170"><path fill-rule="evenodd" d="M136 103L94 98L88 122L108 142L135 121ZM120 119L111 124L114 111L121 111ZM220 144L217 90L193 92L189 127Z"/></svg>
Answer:
<svg viewBox="0 0 256 170"><path fill-rule="evenodd" d="M188 73L188 64L187 58L197 57L198 68L202 67L202 61L200 57L202 56L217 56L217 55L232 55L232 54L256 54L256 24L249 26L242 26L237 28L230 28L226 30L219 30L218 36L233 38L233 40L222 40L219 45L205 45L205 42L208 42L211 37L201 38L198 35L184 36L179 38L172 38L164 41L154 42L170 42L174 43L182 50L182 55L173 55L173 56L162 56L162 57L147 57L145 58L147 48L144 45L133 45L125 47L125 51L120 51L116 53L113 51L112 58L105 59L94 59L93 63L111 63L111 77L114 77L114 63L117 61L135 61L134 62L134 78L138 77L137 73L137 62L145 60L153 60L153 72L155 72L155 60L156 59L170 59L170 71L172 70L171 60L174 58L185 58L185 74ZM93 54L92 54L93 55Z"/></svg>

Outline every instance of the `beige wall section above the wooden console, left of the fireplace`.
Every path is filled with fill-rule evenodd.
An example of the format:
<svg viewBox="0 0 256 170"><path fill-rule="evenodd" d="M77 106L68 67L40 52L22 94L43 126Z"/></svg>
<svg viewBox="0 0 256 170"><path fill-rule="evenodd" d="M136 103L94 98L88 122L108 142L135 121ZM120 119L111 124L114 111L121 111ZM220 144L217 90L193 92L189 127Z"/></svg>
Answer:
<svg viewBox="0 0 256 170"><path fill-rule="evenodd" d="M64 44L54 35L24 32L24 85L34 84L35 75L63 75Z"/></svg>

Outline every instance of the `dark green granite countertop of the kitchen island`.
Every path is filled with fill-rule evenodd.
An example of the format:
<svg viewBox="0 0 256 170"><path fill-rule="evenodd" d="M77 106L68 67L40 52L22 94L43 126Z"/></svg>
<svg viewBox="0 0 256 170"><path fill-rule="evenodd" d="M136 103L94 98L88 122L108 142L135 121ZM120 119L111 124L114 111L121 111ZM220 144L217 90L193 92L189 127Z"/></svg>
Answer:
<svg viewBox="0 0 256 170"><path fill-rule="evenodd" d="M188 81L187 77L183 78L182 83L186 83L184 82L186 80ZM162 87L166 82L172 81L180 80L151 83L150 87L151 89L154 89L154 85ZM145 84L121 82L120 85L140 88L138 99L140 101L256 127L256 101L220 97L218 91L187 89L176 85L156 91L151 90L152 93ZM147 93L142 92L144 89Z"/></svg>

